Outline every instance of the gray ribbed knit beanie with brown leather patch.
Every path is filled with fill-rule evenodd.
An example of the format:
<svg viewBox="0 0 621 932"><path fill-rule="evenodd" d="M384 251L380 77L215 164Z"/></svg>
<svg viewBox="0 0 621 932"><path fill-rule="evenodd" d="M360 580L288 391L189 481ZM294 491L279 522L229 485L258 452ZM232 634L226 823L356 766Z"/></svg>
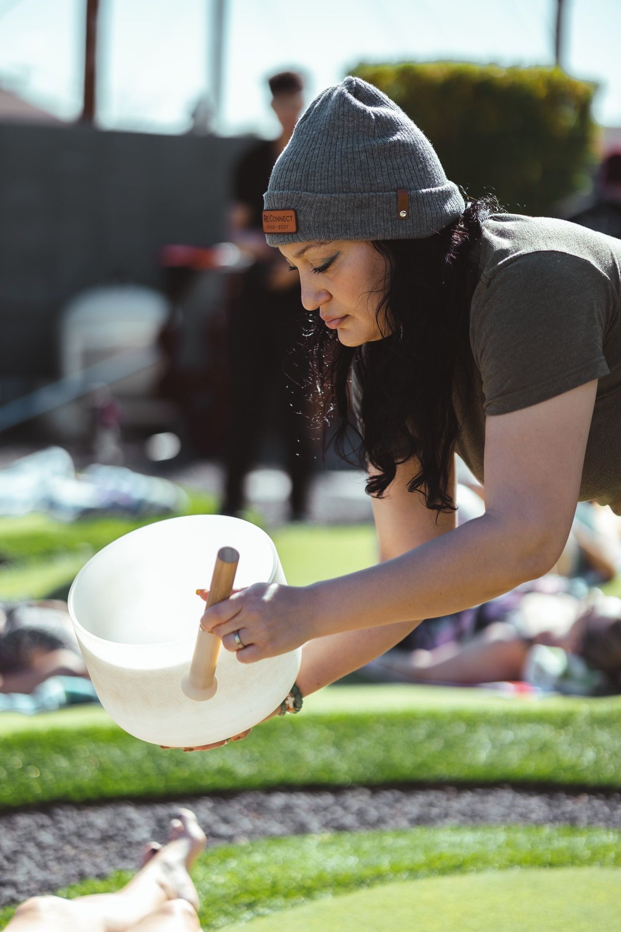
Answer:
<svg viewBox="0 0 621 932"><path fill-rule="evenodd" d="M352 76L305 111L263 201L270 246L420 239L451 224L466 206L410 117Z"/></svg>

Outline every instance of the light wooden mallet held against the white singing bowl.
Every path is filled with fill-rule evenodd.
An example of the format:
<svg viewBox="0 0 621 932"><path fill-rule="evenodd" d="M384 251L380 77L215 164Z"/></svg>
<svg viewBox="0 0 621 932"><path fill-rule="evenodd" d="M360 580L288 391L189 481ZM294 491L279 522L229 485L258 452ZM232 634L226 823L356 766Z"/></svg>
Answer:
<svg viewBox="0 0 621 932"><path fill-rule="evenodd" d="M234 547L221 547L218 551L209 586L208 609L217 602L223 602L233 592L238 562L239 554ZM192 663L182 678L182 691L188 699L204 702L216 694L218 680L215 672L222 646L220 637L209 634L199 625Z"/></svg>

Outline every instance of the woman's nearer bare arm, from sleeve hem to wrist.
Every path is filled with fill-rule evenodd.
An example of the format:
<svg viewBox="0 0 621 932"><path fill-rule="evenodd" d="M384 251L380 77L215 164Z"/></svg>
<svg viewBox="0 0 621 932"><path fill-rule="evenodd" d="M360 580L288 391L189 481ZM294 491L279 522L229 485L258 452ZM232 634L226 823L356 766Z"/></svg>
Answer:
<svg viewBox="0 0 621 932"><path fill-rule="evenodd" d="M547 572L572 526L596 389L593 380L487 418L486 513L378 567L309 587L315 637L449 614Z"/></svg>

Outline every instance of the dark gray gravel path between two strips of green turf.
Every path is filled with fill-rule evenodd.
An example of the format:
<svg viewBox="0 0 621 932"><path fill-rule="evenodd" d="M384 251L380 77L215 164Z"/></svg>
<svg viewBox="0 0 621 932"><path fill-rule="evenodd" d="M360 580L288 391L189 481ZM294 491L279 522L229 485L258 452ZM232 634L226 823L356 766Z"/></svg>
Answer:
<svg viewBox="0 0 621 932"><path fill-rule="evenodd" d="M0 905L85 877L134 868L166 838L175 807L196 812L210 844L264 836L416 825L530 824L621 829L620 793L506 787L243 792L171 802L57 805L0 817Z"/></svg>

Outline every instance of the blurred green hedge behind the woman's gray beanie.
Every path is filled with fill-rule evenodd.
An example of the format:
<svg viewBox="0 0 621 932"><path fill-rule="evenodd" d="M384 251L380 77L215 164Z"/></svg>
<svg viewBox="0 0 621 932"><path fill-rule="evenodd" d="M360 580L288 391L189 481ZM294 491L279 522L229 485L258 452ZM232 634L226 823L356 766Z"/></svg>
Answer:
<svg viewBox="0 0 621 932"><path fill-rule="evenodd" d="M559 68L453 62L361 63L354 74L412 117L471 196L493 192L511 212L546 214L588 185L594 84Z"/></svg>

